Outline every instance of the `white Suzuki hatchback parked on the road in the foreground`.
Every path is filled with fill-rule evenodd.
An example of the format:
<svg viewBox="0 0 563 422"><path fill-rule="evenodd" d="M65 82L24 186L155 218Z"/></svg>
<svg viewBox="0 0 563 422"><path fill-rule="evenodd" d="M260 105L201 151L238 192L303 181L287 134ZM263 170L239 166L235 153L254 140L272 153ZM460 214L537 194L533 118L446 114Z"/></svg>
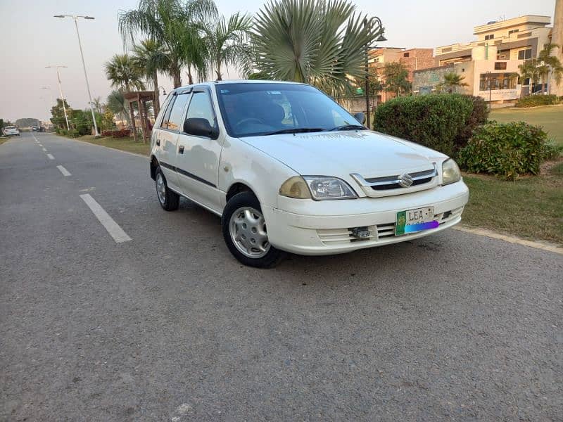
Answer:
<svg viewBox="0 0 563 422"><path fill-rule="evenodd" d="M209 82L167 97L151 138L160 205L222 217L237 260L326 255L434 234L469 191L454 160L366 129L307 84Z"/></svg>

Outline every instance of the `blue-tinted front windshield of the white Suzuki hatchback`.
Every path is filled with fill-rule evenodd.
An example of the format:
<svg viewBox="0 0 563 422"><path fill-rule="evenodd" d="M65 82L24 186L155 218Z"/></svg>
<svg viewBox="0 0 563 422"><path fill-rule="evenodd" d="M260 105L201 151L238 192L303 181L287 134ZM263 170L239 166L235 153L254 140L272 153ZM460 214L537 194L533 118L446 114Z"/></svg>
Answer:
<svg viewBox="0 0 563 422"><path fill-rule="evenodd" d="M364 129L332 98L309 85L219 84L217 98L231 136Z"/></svg>

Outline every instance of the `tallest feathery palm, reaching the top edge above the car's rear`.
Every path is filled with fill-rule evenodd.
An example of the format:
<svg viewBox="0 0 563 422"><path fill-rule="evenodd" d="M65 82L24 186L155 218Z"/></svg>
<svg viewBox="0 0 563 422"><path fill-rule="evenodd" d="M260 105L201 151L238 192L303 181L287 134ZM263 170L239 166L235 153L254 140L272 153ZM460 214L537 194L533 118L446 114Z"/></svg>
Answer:
<svg viewBox="0 0 563 422"><path fill-rule="evenodd" d="M177 88L182 85L182 67L188 67L190 84L192 67L198 75L205 73L201 23L215 15L213 0L139 0L137 9L120 12L119 30L125 43L143 34L162 44L170 58L166 72Z"/></svg>

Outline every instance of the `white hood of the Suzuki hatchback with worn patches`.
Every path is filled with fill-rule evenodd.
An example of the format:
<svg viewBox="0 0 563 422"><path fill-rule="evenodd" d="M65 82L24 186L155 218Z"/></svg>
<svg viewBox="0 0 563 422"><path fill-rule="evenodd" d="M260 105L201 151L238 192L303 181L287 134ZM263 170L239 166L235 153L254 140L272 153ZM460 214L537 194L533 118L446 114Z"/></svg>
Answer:
<svg viewBox="0 0 563 422"><path fill-rule="evenodd" d="M447 158L417 143L369 130L248 136L241 140L303 175L381 177L429 170L433 162Z"/></svg>

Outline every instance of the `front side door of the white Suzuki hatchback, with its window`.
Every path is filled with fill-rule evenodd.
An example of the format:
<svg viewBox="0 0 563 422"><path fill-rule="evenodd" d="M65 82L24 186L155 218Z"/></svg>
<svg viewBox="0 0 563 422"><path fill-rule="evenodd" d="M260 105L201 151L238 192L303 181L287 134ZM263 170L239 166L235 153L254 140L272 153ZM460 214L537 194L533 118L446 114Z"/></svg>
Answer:
<svg viewBox="0 0 563 422"><path fill-rule="evenodd" d="M217 128L217 115L208 89L194 88L192 91L185 119L190 118L208 120L211 127ZM221 139L221 136L211 139L180 132L176 162L182 192L216 212L222 210L217 188Z"/></svg>

